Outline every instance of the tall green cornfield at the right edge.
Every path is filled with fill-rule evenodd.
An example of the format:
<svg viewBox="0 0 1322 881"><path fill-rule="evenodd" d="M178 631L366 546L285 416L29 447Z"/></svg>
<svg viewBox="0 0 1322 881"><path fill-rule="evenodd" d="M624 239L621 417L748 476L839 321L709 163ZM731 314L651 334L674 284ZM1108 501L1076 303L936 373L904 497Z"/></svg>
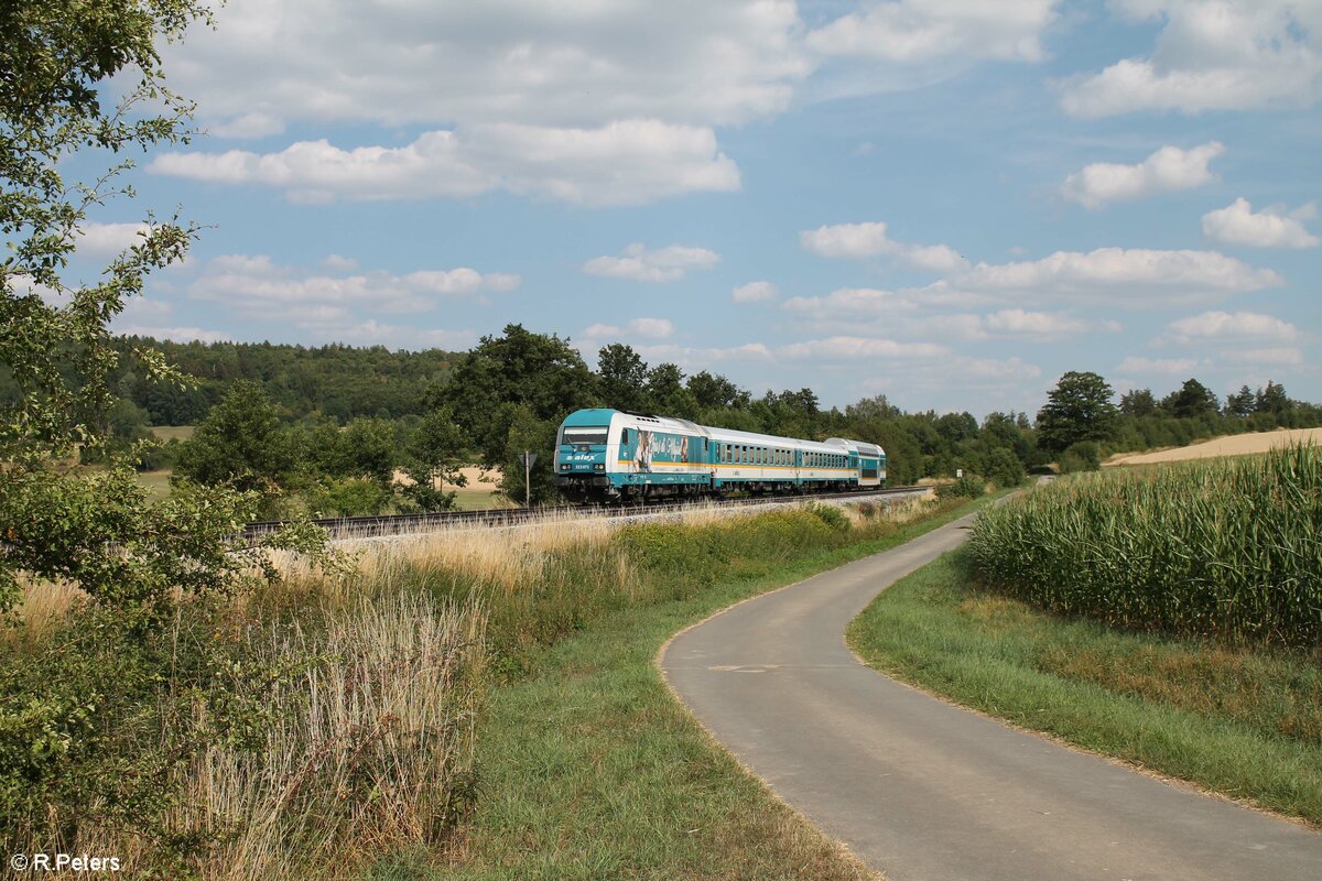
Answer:
<svg viewBox="0 0 1322 881"><path fill-rule="evenodd" d="M985 511L989 588L1229 645L1322 647L1322 448L1058 481Z"/></svg>

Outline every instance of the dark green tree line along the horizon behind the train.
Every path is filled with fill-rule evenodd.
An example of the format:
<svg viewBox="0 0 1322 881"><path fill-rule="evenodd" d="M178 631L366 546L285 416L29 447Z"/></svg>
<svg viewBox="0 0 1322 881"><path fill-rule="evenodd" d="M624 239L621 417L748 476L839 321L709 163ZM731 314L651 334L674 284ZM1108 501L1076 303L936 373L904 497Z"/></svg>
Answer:
<svg viewBox="0 0 1322 881"><path fill-rule="evenodd" d="M267 363L296 362L313 351L286 349L288 354L280 354L279 346L263 345L260 358ZM242 347L186 350L194 357L210 351L229 358L231 350ZM1322 424L1322 408L1292 400L1276 382L1256 391L1245 386L1222 403L1200 382L1188 379L1165 398L1141 388L1125 392L1117 404L1112 387L1092 372L1066 374L1035 419L1026 412L993 412L981 420L969 412L906 412L884 395L843 409L824 408L810 388L755 396L706 370L690 375L674 363L648 365L624 343L602 347L598 369L591 370L568 339L518 324L508 325L500 335L483 337L471 351L457 355L345 346L315 351L329 361L344 353L348 363L398 355L401 363L435 370L422 374L397 366L387 379L401 394L408 390L414 396L398 404L399 413L379 411L348 419L317 407L311 395L287 403L287 371L267 379L237 378L194 437L177 446L178 479L259 489L272 516L304 509L325 515L440 510L455 503L464 464L498 469L501 493L522 499L525 478L517 457L533 450L541 460L527 489L534 502L546 503L554 499L550 465L557 428L568 412L584 407L788 437L870 441L887 450L892 483L951 477L962 469L1010 485L1050 462L1080 470L1096 468L1118 450ZM218 370L202 366L221 382ZM340 369L332 372L352 375ZM397 472L407 477L397 479Z"/></svg>

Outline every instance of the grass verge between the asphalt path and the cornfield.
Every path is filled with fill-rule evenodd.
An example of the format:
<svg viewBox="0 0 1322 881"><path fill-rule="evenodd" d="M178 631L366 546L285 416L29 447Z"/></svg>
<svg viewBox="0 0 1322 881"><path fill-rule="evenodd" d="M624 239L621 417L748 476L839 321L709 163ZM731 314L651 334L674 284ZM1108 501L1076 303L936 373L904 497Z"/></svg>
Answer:
<svg viewBox="0 0 1322 881"><path fill-rule="evenodd" d="M966 549L854 622L869 664L966 707L1322 824L1322 663L1122 633L976 586Z"/></svg>

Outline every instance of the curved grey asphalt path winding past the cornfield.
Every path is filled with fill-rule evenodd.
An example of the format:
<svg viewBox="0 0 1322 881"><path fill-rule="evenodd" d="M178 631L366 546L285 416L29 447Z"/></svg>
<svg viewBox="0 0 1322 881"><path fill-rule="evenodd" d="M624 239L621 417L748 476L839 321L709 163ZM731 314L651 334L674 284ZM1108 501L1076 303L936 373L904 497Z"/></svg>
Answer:
<svg viewBox="0 0 1322 881"><path fill-rule="evenodd" d="M861 664L849 621L966 526L732 606L676 637L660 666L736 758L892 881L1322 880L1322 835Z"/></svg>

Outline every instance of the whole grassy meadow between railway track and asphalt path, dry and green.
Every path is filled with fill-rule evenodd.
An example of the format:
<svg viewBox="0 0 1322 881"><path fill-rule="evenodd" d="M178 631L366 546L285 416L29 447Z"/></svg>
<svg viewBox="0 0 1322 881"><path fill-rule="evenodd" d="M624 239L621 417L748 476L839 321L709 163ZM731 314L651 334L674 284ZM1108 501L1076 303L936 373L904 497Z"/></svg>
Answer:
<svg viewBox="0 0 1322 881"><path fill-rule="evenodd" d="M330 573L290 556L278 584L181 604L145 650L164 682L98 649L77 590L29 585L0 703L58 678L124 709L7 827L217 881L867 877L706 740L650 659L695 618L968 505L453 530L364 543Z"/></svg>

